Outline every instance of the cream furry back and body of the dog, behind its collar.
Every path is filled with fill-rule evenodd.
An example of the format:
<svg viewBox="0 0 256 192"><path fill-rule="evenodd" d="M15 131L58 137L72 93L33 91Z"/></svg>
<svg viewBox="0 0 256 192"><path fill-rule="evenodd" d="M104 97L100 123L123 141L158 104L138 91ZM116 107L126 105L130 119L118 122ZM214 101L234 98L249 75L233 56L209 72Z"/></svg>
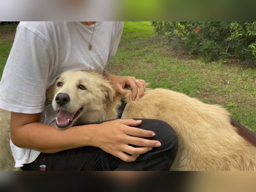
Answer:
<svg viewBox="0 0 256 192"><path fill-rule="evenodd" d="M177 133L173 170L256 170L256 148L238 135L226 109L166 89L130 96L123 118L160 119Z"/></svg>

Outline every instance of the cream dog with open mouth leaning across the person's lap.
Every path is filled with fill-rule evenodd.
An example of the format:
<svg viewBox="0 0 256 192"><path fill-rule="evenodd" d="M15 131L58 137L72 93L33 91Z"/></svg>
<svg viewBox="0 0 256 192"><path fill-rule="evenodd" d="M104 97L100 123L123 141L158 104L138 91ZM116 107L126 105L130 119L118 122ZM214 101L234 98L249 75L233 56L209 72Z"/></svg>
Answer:
<svg viewBox="0 0 256 192"><path fill-rule="evenodd" d="M115 119L122 99L127 102L122 118L167 122L179 140L171 170L256 170L256 148L238 135L226 109L166 89L147 90L135 101L128 92L120 95L97 73L66 71L47 94L59 129Z"/></svg>

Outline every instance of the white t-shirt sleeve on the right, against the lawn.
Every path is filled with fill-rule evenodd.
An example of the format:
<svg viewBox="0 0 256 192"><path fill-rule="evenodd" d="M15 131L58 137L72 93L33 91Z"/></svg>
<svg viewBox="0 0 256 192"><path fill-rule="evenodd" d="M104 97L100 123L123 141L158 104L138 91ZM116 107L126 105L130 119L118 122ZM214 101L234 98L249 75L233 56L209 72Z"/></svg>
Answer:
<svg viewBox="0 0 256 192"><path fill-rule="evenodd" d="M112 37L111 37L111 45L110 45L110 50L108 55L108 62L110 59L114 58L116 55L116 51L123 33L123 27L124 27L124 22L114 23L114 30L113 30L114 33L112 34Z"/></svg>

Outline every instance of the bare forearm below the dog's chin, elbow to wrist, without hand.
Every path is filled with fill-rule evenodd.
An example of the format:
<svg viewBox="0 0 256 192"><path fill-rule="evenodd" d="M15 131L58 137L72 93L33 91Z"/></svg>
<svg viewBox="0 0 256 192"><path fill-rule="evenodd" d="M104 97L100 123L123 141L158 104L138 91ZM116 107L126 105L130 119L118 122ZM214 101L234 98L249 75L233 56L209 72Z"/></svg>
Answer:
<svg viewBox="0 0 256 192"><path fill-rule="evenodd" d="M44 153L55 153L78 148L92 143L90 132L95 125L74 126L59 130L42 123L29 123L11 131L14 145L20 148L35 149Z"/></svg>

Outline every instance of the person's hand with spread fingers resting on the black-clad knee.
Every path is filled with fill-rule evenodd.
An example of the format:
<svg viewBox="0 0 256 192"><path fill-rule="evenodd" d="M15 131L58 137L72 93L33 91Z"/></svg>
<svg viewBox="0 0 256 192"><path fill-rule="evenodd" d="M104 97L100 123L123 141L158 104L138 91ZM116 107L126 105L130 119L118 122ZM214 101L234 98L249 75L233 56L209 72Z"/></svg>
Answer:
<svg viewBox="0 0 256 192"><path fill-rule="evenodd" d="M93 142L91 146L99 147L123 161L135 161L140 154L147 153L153 147L161 146L157 140L140 138L150 138L156 135L153 131L131 127L140 124L141 120L135 121L133 119L117 119L97 124L91 135L93 137L91 138ZM140 147L132 147L128 144Z"/></svg>

